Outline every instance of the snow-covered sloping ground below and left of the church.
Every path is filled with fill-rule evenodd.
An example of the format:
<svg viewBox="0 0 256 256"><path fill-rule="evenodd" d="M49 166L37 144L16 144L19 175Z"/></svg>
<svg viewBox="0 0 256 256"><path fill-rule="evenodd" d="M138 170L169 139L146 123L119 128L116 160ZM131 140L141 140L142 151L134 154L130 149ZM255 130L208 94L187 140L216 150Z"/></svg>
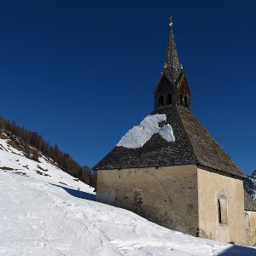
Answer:
<svg viewBox="0 0 256 256"><path fill-rule="evenodd" d="M256 255L96 202L92 188L44 157L15 150L0 139L0 255Z"/></svg>

